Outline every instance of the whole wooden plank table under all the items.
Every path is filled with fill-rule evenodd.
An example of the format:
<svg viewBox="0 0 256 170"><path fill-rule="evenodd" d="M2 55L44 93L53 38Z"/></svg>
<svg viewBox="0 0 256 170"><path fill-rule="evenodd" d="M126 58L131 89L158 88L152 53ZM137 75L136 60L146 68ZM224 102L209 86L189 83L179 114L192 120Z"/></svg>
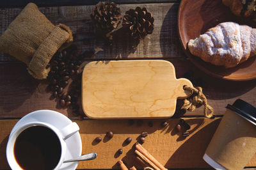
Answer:
<svg viewBox="0 0 256 170"><path fill-rule="evenodd" d="M36 1L34 1L36 2ZM2 2L1 2L2 3ZM26 1L18 3L8 1L0 3L1 32L22 10ZM122 13L136 6L145 6L154 15L154 31L138 43L136 49L119 35L112 46L102 45L97 39L97 32L90 23L90 14L95 1L45 1L36 2L40 11L53 24L66 24L76 35L74 43L79 49L92 51L102 49L88 61L109 59L165 59L173 63L177 77L184 77L186 72L194 72L194 83L203 81L204 94L209 105L214 108L216 118L204 118L203 108L182 114L182 118L191 125L189 137L180 137L175 132L179 118L170 118L166 128L161 127L163 120L135 121L129 125L127 120L77 120L69 109L60 109L56 100L51 100L51 93L46 90L47 81L33 79L26 71L26 66L7 54L0 54L0 169L10 169L6 161L5 148L8 135L15 123L29 112L40 109L51 109L61 112L80 127L83 143L83 154L95 151L98 157L88 162L79 162L77 169L111 169L118 168L116 162L123 159L127 166L141 167L133 155L133 144L141 132L147 131L148 137L143 146L161 164L170 169L175 168L210 168L202 156L211 140L221 117L225 113L225 106L241 98L252 105L256 105L256 80L246 82L225 81L211 77L198 70L185 56L180 47L177 33L177 11L180 1L116 1ZM65 6L63 6L65 5ZM77 6L73 6L77 5ZM176 114L177 117L180 116ZM152 121L153 127L148 126ZM94 144L95 137L104 138L105 133L114 132L113 139ZM132 137L132 143L123 146L127 137ZM117 155L116 151L122 148L124 153ZM248 167L256 167L256 155L248 163Z"/></svg>

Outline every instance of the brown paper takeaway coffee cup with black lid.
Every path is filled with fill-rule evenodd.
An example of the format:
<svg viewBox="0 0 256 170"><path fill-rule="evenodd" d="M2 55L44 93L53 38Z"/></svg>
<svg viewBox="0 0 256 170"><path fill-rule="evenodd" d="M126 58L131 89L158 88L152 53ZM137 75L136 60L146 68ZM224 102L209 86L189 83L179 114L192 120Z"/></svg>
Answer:
<svg viewBox="0 0 256 170"><path fill-rule="evenodd" d="M227 105L204 160L215 169L243 169L256 152L256 108L241 99Z"/></svg>

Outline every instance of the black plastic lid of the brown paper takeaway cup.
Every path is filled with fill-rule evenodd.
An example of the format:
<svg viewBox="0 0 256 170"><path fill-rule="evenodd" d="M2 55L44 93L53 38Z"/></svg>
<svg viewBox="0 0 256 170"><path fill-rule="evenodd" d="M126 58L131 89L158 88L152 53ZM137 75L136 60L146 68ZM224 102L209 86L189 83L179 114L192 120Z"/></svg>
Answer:
<svg viewBox="0 0 256 170"><path fill-rule="evenodd" d="M253 105L248 104L239 98L236 100L236 102L234 102L234 104L228 104L226 108L236 112L244 119L256 125L256 107Z"/></svg>

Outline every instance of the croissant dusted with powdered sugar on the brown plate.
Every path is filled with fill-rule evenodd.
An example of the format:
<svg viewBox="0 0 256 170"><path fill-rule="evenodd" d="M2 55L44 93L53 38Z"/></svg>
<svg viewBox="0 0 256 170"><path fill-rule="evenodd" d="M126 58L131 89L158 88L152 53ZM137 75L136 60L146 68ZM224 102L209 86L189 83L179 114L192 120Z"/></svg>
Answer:
<svg viewBox="0 0 256 170"><path fill-rule="evenodd" d="M213 65L234 67L256 54L256 29L223 22L195 40L189 40L191 54Z"/></svg>

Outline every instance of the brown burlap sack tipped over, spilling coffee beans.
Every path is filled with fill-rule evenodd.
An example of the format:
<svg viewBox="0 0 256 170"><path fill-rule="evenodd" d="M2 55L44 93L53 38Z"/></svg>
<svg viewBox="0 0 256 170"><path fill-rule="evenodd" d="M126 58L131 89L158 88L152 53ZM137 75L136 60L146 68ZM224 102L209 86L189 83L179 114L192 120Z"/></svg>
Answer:
<svg viewBox="0 0 256 170"><path fill-rule="evenodd" d="M0 37L0 51L26 63L36 79L45 79L52 56L72 41L69 27L54 26L36 4L29 3Z"/></svg>

